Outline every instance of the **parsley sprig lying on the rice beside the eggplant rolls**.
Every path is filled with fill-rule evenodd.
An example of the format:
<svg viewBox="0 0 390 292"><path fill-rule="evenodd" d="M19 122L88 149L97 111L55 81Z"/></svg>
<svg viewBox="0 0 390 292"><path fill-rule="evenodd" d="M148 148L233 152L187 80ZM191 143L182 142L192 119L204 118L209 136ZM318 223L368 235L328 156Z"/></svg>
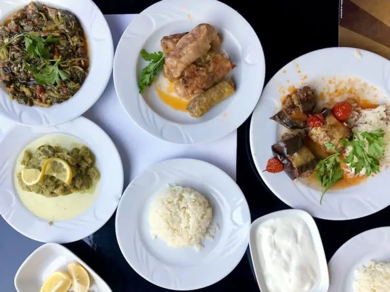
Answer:
<svg viewBox="0 0 390 292"><path fill-rule="evenodd" d="M384 147L386 145L383 137L383 129L362 133L353 131L351 141L347 139L340 141L344 146L352 147L351 152L345 158L344 162L350 168L354 168L355 174L359 174L363 168L365 169L366 176L379 172L379 160L384 155Z"/></svg>

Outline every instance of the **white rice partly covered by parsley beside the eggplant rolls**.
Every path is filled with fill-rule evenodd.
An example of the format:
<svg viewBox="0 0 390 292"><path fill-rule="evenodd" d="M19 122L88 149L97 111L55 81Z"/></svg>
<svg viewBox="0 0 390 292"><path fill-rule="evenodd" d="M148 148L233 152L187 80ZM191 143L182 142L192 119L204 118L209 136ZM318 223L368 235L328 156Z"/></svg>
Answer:
<svg viewBox="0 0 390 292"><path fill-rule="evenodd" d="M352 105L353 106L353 105ZM354 108L351 115L353 121L348 121L348 124L353 125L353 131L358 133L372 132L378 129L384 131L385 153L380 159L380 171L386 168L390 164L390 123L389 113L385 105L379 105L375 108L358 109ZM345 149L345 156L347 156L352 150L349 146ZM354 174L354 168L346 168L346 171ZM361 175L366 173L366 169L363 168L360 172Z"/></svg>

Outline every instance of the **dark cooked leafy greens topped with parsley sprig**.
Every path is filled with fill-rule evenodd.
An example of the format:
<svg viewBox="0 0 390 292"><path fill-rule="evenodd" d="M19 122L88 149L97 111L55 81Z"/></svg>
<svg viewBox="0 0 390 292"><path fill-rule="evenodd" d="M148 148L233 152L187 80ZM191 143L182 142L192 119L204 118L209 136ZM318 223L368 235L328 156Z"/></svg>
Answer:
<svg viewBox="0 0 390 292"><path fill-rule="evenodd" d="M49 107L67 101L88 74L84 30L69 11L31 2L0 27L0 77L11 99Z"/></svg>

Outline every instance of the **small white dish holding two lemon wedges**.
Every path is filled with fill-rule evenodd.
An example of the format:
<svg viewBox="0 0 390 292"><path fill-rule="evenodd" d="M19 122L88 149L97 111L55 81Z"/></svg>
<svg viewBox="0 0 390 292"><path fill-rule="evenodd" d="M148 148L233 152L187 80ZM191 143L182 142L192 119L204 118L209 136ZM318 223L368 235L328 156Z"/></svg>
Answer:
<svg viewBox="0 0 390 292"><path fill-rule="evenodd" d="M88 291L111 292L106 282L68 248L46 243L34 250L16 272L14 283L18 292L37 292L45 280L56 271L68 271L68 264L79 263L88 272Z"/></svg>

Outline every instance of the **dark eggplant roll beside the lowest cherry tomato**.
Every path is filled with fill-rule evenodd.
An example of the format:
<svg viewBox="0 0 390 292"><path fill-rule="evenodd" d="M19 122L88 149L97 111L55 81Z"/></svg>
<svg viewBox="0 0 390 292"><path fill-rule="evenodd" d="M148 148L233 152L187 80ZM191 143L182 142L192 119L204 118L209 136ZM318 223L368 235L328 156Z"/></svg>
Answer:
<svg viewBox="0 0 390 292"><path fill-rule="evenodd" d="M303 135L282 140L272 145L271 150L291 179L306 177L317 164L315 156L304 144Z"/></svg>

